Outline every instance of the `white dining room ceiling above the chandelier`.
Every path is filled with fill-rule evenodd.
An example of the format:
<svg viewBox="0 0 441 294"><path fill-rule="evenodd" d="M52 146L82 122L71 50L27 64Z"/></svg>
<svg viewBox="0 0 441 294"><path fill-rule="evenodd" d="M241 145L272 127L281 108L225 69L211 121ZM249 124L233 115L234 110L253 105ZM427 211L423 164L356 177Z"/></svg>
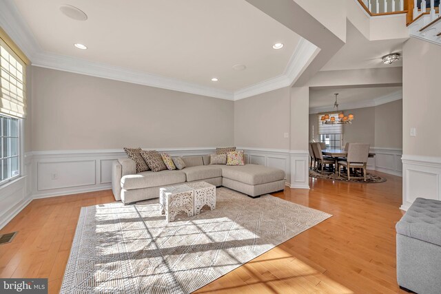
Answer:
<svg viewBox="0 0 441 294"><path fill-rule="evenodd" d="M357 87L357 88L324 88L312 89L309 92L309 109L320 112L321 108L332 109L338 93L338 109L351 109L373 106L374 101L384 98L384 102L397 100L402 96L402 87ZM327 110L326 110L327 111Z"/></svg>

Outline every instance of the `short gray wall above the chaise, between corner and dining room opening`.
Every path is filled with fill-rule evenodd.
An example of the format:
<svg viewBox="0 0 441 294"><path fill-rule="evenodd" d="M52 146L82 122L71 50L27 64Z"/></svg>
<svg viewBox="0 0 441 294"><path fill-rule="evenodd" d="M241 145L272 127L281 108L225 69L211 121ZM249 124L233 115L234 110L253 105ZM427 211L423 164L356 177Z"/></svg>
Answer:
<svg viewBox="0 0 441 294"><path fill-rule="evenodd" d="M289 149L290 88L234 102L234 144L240 147Z"/></svg>

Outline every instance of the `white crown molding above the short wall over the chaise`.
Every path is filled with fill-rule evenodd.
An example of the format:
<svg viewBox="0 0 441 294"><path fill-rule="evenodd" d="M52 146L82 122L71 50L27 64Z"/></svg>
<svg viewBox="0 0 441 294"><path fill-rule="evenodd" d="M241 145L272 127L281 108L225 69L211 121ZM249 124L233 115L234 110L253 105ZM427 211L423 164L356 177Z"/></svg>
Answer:
<svg viewBox="0 0 441 294"><path fill-rule="evenodd" d="M314 60L318 52L320 49L316 45L301 38L283 74L234 92L234 101L291 86Z"/></svg>

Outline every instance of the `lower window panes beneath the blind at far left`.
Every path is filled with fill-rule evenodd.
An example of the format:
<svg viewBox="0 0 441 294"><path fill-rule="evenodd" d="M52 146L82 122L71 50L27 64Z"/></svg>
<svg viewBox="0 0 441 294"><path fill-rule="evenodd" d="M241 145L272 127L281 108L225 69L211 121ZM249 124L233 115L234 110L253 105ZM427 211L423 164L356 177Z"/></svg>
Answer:
<svg viewBox="0 0 441 294"><path fill-rule="evenodd" d="M0 183L20 174L19 119L0 114Z"/></svg>

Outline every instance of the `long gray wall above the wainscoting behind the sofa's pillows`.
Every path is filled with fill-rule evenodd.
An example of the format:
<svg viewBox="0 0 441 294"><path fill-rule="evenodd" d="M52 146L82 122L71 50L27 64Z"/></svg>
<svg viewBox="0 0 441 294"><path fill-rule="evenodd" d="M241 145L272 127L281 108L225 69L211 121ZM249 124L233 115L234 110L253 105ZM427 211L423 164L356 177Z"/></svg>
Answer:
<svg viewBox="0 0 441 294"><path fill-rule="evenodd" d="M41 67L32 67L30 97L27 150L234 143L233 101Z"/></svg>

